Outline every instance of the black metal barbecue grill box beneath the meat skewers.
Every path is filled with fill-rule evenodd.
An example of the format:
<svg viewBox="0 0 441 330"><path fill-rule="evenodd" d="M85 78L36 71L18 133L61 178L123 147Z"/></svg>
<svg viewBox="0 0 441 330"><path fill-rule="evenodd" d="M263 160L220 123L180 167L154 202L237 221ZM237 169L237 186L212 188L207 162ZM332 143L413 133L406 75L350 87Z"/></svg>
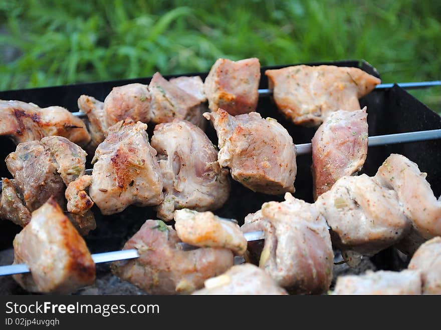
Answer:
<svg viewBox="0 0 441 330"><path fill-rule="evenodd" d="M365 61L307 63L307 65L357 67L371 75L379 77L376 69ZM262 78L259 88L268 88L268 79L264 74L265 70L279 69L286 66L291 65L262 67ZM204 80L207 74L207 72L190 73L185 74L185 76L198 75ZM180 75L164 76L164 78L170 79L178 76ZM4 91L0 92L0 99L33 102L41 107L59 105L75 112L78 109L78 97L82 94L91 95L97 99L104 100L107 94L115 86L135 82L148 84L150 79L151 78L141 78ZM394 85L391 88L373 90L371 93L360 99L360 105L361 107L367 106L369 136L441 129L441 117L397 85ZM295 144L310 143L316 131L316 128L295 126L292 122L286 120L277 110L277 107L269 94L260 95L256 111L259 112L262 117L272 117L277 119L279 123L288 130L293 137ZM148 129L149 137L152 135L153 128L153 125L151 125ZM213 144L217 145L217 136L214 129L210 125L207 125L205 132ZM5 159L10 152L15 150L15 145L5 137L0 137L0 139L3 145L3 148L0 151L0 157ZM441 176L439 173L441 168L440 152L440 140L369 147L362 173L372 176L391 153L402 154L417 163L421 172L427 172L427 181L430 183L435 196L439 196L441 194ZM91 157L89 156L86 168L92 168L90 160ZM298 172L295 181L296 192L294 196L307 202L313 202L311 164L311 155L299 155L297 157ZM0 175L2 177L11 176L6 168L5 162L0 163ZM271 200L282 201L283 196L271 196L253 192L242 186L239 182L232 180L231 195L228 201L223 208L214 213L222 217L237 219L239 224L243 224L244 218L247 214L259 210L264 202ZM100 214L100 211L96 206L93 207L92 211L95 214L97 229L91 231L89 235L85 237L91 253L120 249L125 241L140 228L146 219L156 219L156 212L152 207L141 208L129 206L121 213L105 217ZM12 241L20 229L21 227L10 221L0 222L1 265L12 263ZM394 253L396 253L395 250L389 248L371 258L371 260L377 268L398 270L397 268L402 266L402 264L399 262L397 263L397 258ZM111 275L108 264L97 265L96 282L97 286L99 286L98 293L112 292L128 294L141 292L131 284L121 283L119 279ZM118 288L112 289L115 287L116 283L118 283ZM87 290L88 289L84 289L83 291L90 292ZM16 284L12 277L0 277L0 293L13 294L24 292L26 291Z"/></svg>

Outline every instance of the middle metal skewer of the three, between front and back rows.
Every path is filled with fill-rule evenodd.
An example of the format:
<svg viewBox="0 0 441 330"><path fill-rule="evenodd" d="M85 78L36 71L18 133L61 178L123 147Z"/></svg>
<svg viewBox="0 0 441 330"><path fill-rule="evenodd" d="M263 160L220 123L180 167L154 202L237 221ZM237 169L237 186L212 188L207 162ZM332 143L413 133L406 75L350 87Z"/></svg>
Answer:
<svg viewBox="0 0 441 330"><path fill-rule="evenodd" d="M373 146L382 146L385 144L398 144L398 143L418 142L418 141L437 140L437 139L441 139L441 129L369 136L368 146L373 147ZM311 143L297 144L296 150L297 150L297 155L307 155L312 152L312 145ZM85 174L91 175L92 170L93 169L91 168L87 169L85 171ZM0 188L1 187L2 187L2 181L0 181Z"/></svg>

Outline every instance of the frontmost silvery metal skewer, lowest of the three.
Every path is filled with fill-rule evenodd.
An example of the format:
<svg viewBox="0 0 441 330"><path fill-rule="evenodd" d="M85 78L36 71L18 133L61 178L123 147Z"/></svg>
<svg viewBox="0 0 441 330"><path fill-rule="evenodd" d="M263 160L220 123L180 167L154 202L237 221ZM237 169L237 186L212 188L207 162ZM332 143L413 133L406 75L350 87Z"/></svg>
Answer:
<svg viewBox="0 0 441 330"><path fill-rule="evenodd" d="M264 239L264 232L263 231L251 231L248 233L244 233L244 236L247 239L247 241L249 241L249 242L256 241L256 240ZM191 250L191 249L197 248L197 247L193 247L192 245L185 244L185 243L183 243L182 245L183 245L183 250ZM135 259L137 257L139 257L139 254L138 254L138 250L136 250L136 249L92 254L92 259L93 259L93 262L95 262L95 263ZM25 263L0 266L0 276L22 274L22 273L28 273L28 272L30 272L30 269Z"/></svg>

